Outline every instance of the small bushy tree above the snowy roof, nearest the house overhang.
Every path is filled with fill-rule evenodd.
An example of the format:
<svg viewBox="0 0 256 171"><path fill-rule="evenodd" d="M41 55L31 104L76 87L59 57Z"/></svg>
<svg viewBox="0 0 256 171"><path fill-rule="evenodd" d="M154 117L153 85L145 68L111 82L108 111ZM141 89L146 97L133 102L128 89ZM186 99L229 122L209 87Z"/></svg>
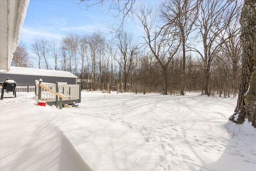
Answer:
<svg viewBox="0 0 256 171"><path fill-rule="evenodd" d="M12 66L29 67L28 52L24 44L19 44L13 53Z"/></svg>

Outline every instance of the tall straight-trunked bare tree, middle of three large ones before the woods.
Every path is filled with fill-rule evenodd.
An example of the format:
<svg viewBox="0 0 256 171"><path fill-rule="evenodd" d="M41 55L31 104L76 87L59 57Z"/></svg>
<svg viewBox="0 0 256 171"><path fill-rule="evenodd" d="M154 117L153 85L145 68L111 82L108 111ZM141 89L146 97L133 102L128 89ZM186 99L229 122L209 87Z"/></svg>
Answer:
<svg viewBox="0 0 256 171"><path fill-rule="evenodd" d="M186 42L198 18L200 0L166 0L160 10L166 22L166 29L177 28L182 42L182 74L180 94L184 95L185 67L186 67Z"/></svg>

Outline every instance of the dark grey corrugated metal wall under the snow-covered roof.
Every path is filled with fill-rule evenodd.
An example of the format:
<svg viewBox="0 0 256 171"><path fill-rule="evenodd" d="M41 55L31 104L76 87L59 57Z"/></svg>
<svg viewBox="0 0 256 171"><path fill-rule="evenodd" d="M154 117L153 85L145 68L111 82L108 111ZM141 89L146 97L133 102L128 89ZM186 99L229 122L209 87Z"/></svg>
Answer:
<svg viewBox="0 0 256 171"><path fill-rule="evenodd" d="M50 76L28 76L19 74L0 73L0 82L5 82L6 78L14 80L18 86L35 85L35 80L42 79L46 83L67 82L68 84L76 84L76 78L50 77Z"/></svg>

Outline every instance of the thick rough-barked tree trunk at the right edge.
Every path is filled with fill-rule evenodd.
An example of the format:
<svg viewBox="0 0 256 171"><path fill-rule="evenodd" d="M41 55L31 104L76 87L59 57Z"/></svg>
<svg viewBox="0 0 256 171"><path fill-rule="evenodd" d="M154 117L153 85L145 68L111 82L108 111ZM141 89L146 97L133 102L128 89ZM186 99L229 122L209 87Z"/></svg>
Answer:
<svg viewBox="0 0 256 171"><path fill-rule="evenodd" d="M256 0L245 0L240 18L242 43L242 81L238 101L230 120L241 124L245 119L256 127ZM250 85L250 87L249 87Z"/></svg>

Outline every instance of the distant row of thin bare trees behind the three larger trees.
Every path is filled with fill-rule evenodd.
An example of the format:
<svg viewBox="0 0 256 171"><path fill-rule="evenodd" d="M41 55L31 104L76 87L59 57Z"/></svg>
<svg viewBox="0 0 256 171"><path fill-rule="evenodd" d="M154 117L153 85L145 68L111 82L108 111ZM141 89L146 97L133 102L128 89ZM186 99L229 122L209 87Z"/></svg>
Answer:
<svg viewBox="0 0 256 171"><path fill-rule="evenodd" d="M168 64L166 73L164 73L162 72L163 66L159 64L154 54L151 51L141 50L137 44L132 42L131 35L130 38L127 36L129 37L127 33L120 34L115 41L116 48L107 44L99 32L94 33L93 37L77 36L79 41L76 53L72 52L72 48L67 48L67 46L60 46L60 48L54 46L55 51L49 51L52 55L49 55L49 58L52 57L52 60L56 62L54 63L54 69L76 74L83 82L83 89L102 89L104 85L106 88L108 83L110 83L112 89L117 89L117 84L123 83L125 91L132 89L134 92L143 93L162 92L166 84L169 85L166 90L169 94L182 94L180 90L182 85L186 91L200 91L202 89L204 73L202 70L203 62L200 58L196 58L192 54L186 56L183 80L181 79L183 70L182 52L178 52L174 58L168 60L170 64ZM67 36L64 40L71 41L74 39ZM92 42L88 42L89 40ZM24 48L24 46L22 47ZM70 58L70 54L77 54L76 58L74 56ZM14 59L16 59L16 56L14 54ZM58 58L54 58L55 56ZM235 60L234 68L231 57L225 51L225 53L223 52L220 56L214 58L209 82L211 95L236 96L238 80L240 80L238 78L241 69L240 58ZM15 60L13 60L14 63ZM17 63L15 66L22 65ZM55 66L57 67L55 68Z"/></svg>

